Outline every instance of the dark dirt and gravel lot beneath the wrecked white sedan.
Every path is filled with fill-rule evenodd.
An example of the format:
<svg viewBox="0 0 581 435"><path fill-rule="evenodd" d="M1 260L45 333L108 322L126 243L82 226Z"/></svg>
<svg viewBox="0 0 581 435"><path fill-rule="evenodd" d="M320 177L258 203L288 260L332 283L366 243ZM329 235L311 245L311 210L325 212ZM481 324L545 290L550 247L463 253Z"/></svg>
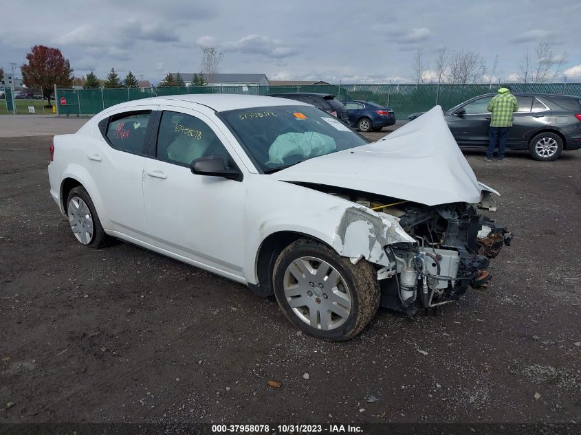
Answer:
<svg viewBox="0 0 581 435"><path fill-rule="evenodd" d="M331 344L236 283L80 246L49 195L49 145L0 138L0 422L580 421L581 152L468 153L517 234L490 290Z"/></svg>

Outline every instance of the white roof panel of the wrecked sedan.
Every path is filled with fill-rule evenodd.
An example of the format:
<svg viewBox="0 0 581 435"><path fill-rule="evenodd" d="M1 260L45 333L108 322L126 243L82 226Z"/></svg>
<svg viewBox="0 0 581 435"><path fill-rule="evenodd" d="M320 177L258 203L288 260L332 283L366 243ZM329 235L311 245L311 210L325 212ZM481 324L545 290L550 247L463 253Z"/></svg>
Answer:
<svg viewBox="0 0 581 435"><path fill-rule="evenodd" d="M133 100L115 107L122 109L123 107L138 107L144 104L172 104L173 102L185 102L193 104L201 104L209 107L217 112L250 109L253 107L271 107L271 106L309 106L309 104L288 100L287 98L263 97L256 95L239 95L232 93L193 93L189 95L172 95L164 97L142 98L141 100Z"/></svg>

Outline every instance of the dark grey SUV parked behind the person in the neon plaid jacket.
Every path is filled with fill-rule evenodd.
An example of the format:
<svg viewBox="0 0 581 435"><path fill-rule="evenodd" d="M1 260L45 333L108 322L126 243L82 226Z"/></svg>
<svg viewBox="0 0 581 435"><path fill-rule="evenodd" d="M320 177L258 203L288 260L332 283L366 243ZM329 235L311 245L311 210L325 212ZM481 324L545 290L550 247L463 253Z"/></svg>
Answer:
<svg viewBox="0 0 581 435"><path fill-rule="evenodd" d="M474 97L444 111L459 146L487 146L494 93ZM540 161L558 159L562 150L581 148L581 97L549 93L514 93L518 111L513 113L507 148L528 150ZM420 113L413 113L414 120Z"/></svg>

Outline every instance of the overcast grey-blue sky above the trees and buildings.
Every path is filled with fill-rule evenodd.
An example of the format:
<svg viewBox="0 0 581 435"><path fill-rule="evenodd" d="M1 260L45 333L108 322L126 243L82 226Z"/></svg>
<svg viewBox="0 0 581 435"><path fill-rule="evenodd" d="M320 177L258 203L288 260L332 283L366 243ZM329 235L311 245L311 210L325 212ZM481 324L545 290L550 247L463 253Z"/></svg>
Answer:
<svg viewBox="0 0 581 435"><path fill-rule="evenodd" d="M10 72L32 45L49 45L75 76L105 78L115 67L157 85L168 71L199 71L212 45L223 73L360 82L411 79L416 49L433 67L447 47L479 52L491 69L498 55L494 76L508 78L548 41L567 52L565 74L581 77L580 19L571 0L19 0L2 6L0 67Z"/></svg>

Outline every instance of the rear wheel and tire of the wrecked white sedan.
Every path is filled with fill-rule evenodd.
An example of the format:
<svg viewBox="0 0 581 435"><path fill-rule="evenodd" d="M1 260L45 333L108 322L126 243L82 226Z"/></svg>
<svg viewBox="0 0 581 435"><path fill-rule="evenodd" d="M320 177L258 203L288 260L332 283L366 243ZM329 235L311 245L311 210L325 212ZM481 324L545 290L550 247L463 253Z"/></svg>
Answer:
<svg viewBox="0 0 581 435"><path fill-rule="evenodd" d="M73 235L78 243L94 249L109 243L103 230L95 205L85 188L78 186L67 197L67 216Z"/></svg>

